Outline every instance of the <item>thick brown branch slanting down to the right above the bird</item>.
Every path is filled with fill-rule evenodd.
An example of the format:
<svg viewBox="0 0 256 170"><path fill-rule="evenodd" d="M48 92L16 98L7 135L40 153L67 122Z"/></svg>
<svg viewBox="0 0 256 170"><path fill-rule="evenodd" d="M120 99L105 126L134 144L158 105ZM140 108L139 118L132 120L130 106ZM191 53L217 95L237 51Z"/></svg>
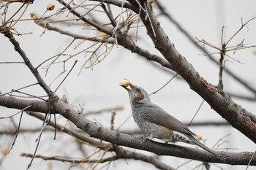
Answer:
<svg viewBox="0 0 256 170"><path fill-rule="evenodd" d="M137 2L133 3L138 6ZM173 43L170 42L154 15L151 5L143 2L143 7L148 12L140 12L140 18L142 18L148 35L153 40L157 50L164 55L165 59L173 66L173 69L187 81L190 88L208 102L211 108L224 117L230 125L256 143L256 125L252 119L246 116L246 109L235 104L230 98L222 96L217 89L212 87L203 77L200 77L200 74L193 68L192 64L178 53Z"/></svg>

